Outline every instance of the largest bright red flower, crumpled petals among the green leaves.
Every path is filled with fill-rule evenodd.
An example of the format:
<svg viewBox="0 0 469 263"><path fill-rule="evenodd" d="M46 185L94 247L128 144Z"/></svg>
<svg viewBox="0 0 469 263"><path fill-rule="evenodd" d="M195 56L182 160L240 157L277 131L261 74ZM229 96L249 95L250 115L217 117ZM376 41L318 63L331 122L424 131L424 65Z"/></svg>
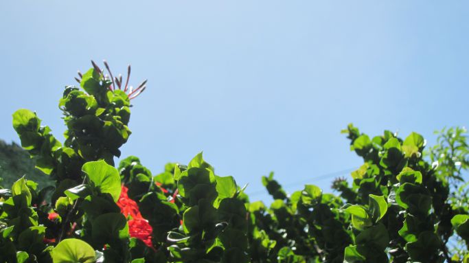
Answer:
<svg viewBox="0 0 469 263"><path fill-rule="evenodd" d="M140 214L139 207L135 201L128 197L128 188L122 185L122 191L119 196L117 205L121 209L124 216L129 217L128 232L133 238L142 240L148 247L152 247L152 227L148 224L148 220Z"/></svg>

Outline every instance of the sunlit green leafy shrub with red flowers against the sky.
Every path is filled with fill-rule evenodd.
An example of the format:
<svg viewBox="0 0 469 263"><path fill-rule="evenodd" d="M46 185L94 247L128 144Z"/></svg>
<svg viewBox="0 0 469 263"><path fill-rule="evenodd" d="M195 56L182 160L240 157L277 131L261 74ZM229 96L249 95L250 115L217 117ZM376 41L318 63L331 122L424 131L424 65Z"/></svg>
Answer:
<svg viewBox="0 0 469 263"><path fill-rule="evenodd" d="M130 100L146 82L132 90L109 75L93 63L81 89L65 88L63 143L35 113L13 114L21 145L55 187L23 177L0 191L0 262L468 262L464 130L442 132L432 164L417 133L370 138L350 125L343 133L363 158L352 185L336 179L338 196L315 185L287 194L270 174L266 206L201 153L157 175L137 157L114 168Z"/></svg>

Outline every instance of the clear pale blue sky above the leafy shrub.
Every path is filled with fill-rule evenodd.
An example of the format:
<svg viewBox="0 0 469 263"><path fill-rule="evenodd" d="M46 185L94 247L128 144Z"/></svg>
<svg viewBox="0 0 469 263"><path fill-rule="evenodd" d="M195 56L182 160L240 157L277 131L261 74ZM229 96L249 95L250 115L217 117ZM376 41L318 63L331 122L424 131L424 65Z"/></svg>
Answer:
<svg viewBox="0 0 469 263"><path fill-rule="evenodd" d="M201 150L219 175L287 190L361 164L340 130L467 126L468 1L0 1L0 138L30 108L62 138L58 100L89 60L148 78L122 157L157 174ZM347 174L345 174L347 176ZM253 199L266 200L264 194Z"/></svg>

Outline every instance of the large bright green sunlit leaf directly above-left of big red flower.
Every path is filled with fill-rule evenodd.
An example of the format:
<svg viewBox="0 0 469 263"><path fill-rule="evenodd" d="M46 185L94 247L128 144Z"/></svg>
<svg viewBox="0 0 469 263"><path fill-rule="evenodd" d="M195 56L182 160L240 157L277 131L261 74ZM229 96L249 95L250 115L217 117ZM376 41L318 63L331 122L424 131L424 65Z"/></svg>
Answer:
<svg viewBox="0 0 469 263"><path fill-rule="evenodd" d="M87 174L93 187L101 193L111 194L115 202L119 200L121 181L117 169L101 160L85 163L82 171Z"/></svg>

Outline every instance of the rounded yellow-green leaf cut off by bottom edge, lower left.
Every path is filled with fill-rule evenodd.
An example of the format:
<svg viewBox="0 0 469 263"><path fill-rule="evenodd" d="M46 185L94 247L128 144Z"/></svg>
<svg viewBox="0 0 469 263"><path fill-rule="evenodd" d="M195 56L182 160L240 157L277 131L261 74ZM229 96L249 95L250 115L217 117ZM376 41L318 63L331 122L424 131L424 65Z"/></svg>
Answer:
<svg viewBox="0 0 469 263"><path fill-rule="evenodd" d="M54 263L93 263L95 251L87 242L69 238L62 240L51 252Z"/></svg>

